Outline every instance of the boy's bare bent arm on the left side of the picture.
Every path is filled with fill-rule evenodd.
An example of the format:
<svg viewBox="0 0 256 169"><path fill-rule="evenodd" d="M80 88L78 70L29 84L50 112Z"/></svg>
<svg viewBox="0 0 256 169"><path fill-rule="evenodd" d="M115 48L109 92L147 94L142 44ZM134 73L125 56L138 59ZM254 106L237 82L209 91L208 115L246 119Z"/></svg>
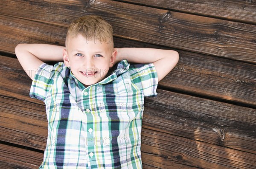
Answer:
<svg viewBox="0 0 256 169"><path fill-rule="evenodd" d="M44 62L63 62L63 46L47 44L19 44L15 54L20 65L33 80L36 70Z"/></svg>

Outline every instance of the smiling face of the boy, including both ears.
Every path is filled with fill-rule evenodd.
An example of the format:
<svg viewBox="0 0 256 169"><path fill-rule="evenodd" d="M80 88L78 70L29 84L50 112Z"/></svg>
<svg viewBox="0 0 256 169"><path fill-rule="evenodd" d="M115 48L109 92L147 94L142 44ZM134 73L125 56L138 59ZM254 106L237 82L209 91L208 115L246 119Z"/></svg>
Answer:
<svg viewBox="0 0 256 169"><path fill-rule="evenodd" d="M87 40L81 34L70 38L66 48L64 63L85 87L104 79L116 59L110 44L99 39Z"/></svg>

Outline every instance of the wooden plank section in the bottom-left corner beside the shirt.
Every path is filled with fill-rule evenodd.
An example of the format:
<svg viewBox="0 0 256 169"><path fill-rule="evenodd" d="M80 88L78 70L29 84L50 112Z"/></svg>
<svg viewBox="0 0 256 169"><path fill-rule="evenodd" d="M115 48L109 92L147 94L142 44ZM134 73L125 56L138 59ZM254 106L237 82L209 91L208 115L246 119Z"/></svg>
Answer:
<svg viewBox="0 0 256 169"><path fill-rule="evenodd" d="M0 144L1 169L35 169L39 168L44 154L28 149Z"/></svg>

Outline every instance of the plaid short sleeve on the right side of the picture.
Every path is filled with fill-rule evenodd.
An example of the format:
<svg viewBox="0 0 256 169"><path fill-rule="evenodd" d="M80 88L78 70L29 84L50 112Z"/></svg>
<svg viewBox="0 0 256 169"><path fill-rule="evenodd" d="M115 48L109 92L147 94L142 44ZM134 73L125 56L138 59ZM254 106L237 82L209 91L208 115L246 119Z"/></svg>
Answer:
<svg viewBox="0 0 256 169"><path fill-rule="evenodd" d="M132 82L144 96L157 96L158 77L153 63L130 65L129 71Z"/></svg>

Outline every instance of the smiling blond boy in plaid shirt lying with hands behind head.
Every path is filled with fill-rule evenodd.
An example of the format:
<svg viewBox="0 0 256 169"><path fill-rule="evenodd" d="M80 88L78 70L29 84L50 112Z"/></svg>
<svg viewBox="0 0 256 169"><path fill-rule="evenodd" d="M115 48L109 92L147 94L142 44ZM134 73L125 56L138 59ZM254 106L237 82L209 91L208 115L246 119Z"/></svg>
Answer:
<svg viewBox="0 0 256 169"><path fill-rule="evenodd" d="M46 104L48 139L40 169L142 168L144 97L157 95L158 82L175 67L179 55L113 48L112 31L101 17L85 16L68 27L66 48L15 48L33 80L30 96ZM58 63L45 63L49 61Z"/></svg>

